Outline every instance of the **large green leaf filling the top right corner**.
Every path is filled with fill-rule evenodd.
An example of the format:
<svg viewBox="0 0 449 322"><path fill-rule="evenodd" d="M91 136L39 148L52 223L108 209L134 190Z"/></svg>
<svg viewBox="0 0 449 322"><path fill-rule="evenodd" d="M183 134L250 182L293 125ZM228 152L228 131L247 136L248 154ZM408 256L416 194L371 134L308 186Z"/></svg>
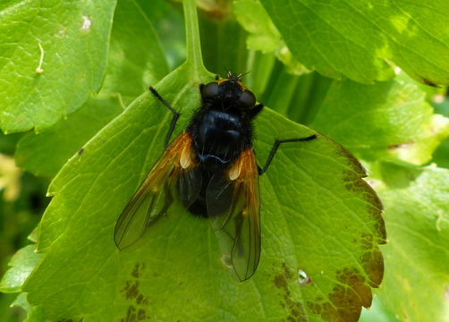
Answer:
<svg viewBox="0 0 449 322"><path fill-rule="evenodd" d="M389 80L390 62L415 80L449 84L445 1L260 0L292 55L332 78Z"/></svg>

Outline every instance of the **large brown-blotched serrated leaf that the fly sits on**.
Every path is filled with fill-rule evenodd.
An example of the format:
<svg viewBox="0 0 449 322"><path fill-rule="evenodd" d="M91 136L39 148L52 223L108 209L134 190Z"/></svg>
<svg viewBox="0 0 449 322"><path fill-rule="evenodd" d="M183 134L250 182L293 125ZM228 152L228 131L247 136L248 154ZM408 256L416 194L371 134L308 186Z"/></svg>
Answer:
<svg viewBox="0 0 449 322"><path fill-rule="evenodd" d="M182 109L181 124L199 104L199 80L187 67L157 86ZM260 179L263 250L249 282L227 274L207 221L179 206L139 250L115 248L116 218L162 151L170 118L144 94L56 176L40 225L38 250L46 255L24 287L30 303L47 318L85 321L127 312L157 320L357 320L360 306L370 304L370 286L382 278L377 243L385 231L360 165L324 137L284 146ZM257 131L261 164L275 137L311 133L269 110ZM312 283L299 284L299 269Z"/></svg>

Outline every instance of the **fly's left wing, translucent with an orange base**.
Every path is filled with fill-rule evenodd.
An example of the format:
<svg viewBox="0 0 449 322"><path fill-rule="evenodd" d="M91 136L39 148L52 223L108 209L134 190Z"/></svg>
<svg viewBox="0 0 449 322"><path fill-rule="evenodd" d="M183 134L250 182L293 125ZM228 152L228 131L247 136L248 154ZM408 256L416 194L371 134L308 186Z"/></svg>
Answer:
<svg viewBox="0 0 449 322"><path fill-rule="evenodd" d="M189 206L198 198L201 177L194 161L191 134L182 132L167 148L140 184L115 225L114 241L124 250L141 240L148 227L166 214L179 198Z"/></svg>

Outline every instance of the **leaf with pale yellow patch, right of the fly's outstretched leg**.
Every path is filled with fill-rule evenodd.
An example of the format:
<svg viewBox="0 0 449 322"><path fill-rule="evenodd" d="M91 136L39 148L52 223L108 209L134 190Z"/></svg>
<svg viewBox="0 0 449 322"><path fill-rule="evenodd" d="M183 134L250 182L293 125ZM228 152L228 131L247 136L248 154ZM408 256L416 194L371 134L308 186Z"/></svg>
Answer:
<svg viewBox="0 0 449 322"><path fill-rule="evenodd" d="M449 135L449 119L433 114L425 93L411 81L362 85L343 80L329 89L314 128L364 159L421 165Z"/></svg>

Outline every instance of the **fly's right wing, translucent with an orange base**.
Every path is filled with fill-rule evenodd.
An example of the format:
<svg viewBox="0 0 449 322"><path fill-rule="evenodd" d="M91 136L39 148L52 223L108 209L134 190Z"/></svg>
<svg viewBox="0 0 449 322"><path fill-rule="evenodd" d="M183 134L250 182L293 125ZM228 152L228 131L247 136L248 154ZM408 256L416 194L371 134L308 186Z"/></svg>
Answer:
<svg viewBox="0 0 449 322"><path fill-rule="evenodd" d="M237 280L250 278L260 258L258 166L252 148L242 151L228 172L211 178L206 200L222 260Z"/></svg>

